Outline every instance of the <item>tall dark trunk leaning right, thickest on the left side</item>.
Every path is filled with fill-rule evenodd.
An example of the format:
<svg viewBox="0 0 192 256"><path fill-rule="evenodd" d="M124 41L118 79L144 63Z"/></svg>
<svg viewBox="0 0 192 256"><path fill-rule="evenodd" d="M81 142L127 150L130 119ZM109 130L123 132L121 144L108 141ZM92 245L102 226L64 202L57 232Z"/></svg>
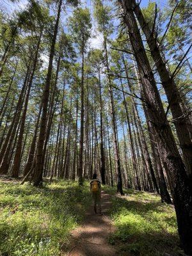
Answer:
<svg viewBox="0 0 192 256"><path fill-rule="evenodd" d="M44 93L42 95L42 118L40 122L40 132L38 136L38 143L36 148L36 163L35 163L35 170L33 175L33 184L34 186L39 186L42 184L42 175L44 171L44 156L42 154L44 149L44 141L45 141L45 131L47 125L47 108L49 102L49 90L51 84L51 74L52 74L52 61L54 57L54 49L56 44L56 37L58 34L58 25L60 20L60 13L61 13L61 4L62 0L60 0L58 4L58 14L56 18L56 23L54 25L54 35L52 37L51 43L51 51L49 56L49 66L47 71L47 77L45 82Z"/></svg>

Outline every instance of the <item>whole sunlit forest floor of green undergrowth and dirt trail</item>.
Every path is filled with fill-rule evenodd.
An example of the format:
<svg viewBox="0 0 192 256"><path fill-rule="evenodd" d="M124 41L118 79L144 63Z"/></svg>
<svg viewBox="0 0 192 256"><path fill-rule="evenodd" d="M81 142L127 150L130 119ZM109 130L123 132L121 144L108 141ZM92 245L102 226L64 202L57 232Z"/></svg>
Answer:
<svg viewBox="0 0 192 256"><path fill-rule="evenodd" d="M0 256L182 255L173 205L153 193L103 190L99 216L88 182L34 188L0 179Z"/></svg>

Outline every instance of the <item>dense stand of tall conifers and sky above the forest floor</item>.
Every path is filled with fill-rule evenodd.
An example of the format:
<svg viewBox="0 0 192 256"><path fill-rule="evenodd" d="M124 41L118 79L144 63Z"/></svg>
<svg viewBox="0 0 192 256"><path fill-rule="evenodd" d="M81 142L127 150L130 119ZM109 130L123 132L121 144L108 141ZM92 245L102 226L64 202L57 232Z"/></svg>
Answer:
<svg viewBox="0 0 192 256"><path fill-rule="evenodd" d="M2 1L0 174L159 193L192 253L191 17L188 0Z"/></svg>

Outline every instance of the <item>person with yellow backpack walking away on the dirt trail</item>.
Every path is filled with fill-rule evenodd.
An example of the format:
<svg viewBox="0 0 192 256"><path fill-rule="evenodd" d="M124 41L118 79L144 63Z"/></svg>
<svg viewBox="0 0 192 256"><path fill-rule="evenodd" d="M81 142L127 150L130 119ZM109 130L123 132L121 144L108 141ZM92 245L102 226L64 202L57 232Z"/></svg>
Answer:
<svg viewBox="0 0 192 256"><path fill-rule="evenodd" d="M99 179L97 179L97 173L93 174L93 179L90 182L90 191L91 191L92 197L93 197L94 212L95 212L95 214L97 213L97 206L98 206L98 213L100 215L102 215L102 213L101 213L101 205L100 205L101 186L100 186Z"/></svg>

